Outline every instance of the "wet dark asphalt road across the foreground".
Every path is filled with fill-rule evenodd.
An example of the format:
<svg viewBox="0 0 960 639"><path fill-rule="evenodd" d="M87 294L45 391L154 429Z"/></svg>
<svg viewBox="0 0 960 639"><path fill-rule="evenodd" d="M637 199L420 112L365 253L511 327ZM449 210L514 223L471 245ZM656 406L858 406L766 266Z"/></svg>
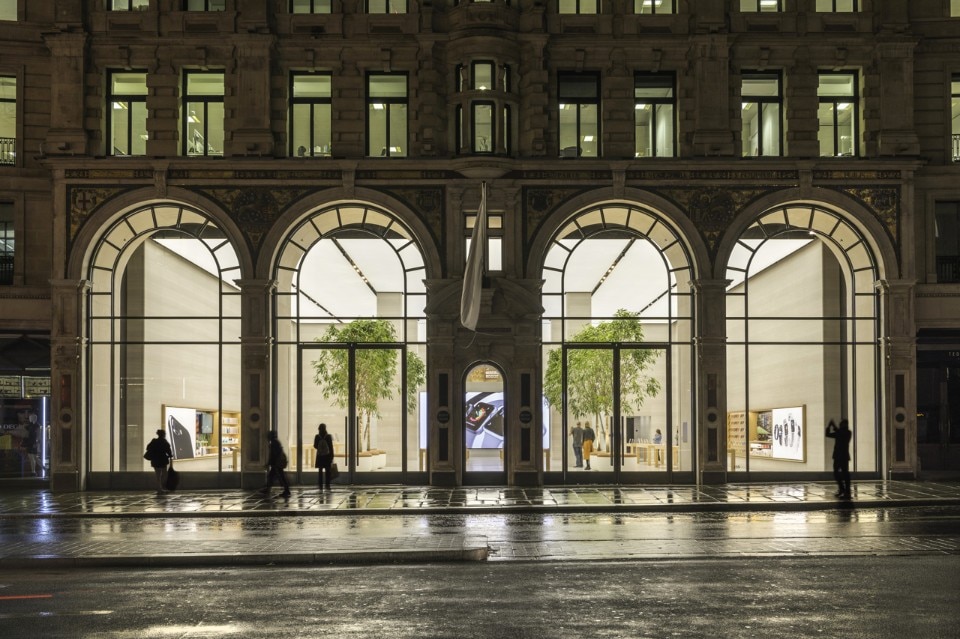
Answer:
<svg viewBox="0 0 960 639"><path fill-rule="evenodd" d="M0 636L960 636L960 556L16 570Z"/></svg>

